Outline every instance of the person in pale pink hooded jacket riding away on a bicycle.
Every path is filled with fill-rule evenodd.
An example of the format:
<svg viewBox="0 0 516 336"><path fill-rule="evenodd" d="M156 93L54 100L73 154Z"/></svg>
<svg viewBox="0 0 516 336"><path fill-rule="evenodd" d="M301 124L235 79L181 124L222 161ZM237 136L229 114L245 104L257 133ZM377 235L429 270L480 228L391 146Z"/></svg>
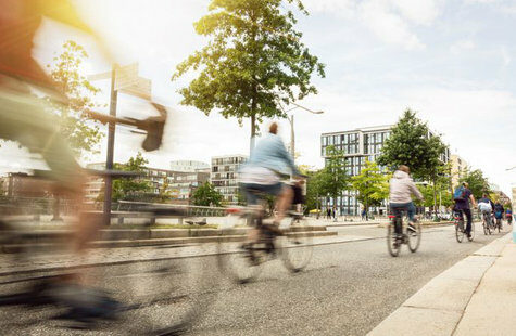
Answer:
<svg viewBox="0 0 516 336"><path fill-rule="evenodd" d="M393 212L399 211L400 209L406 209L408 220L411 221L408 223L408 229L415 231L413 223L416 222L416 207L412 202L412 195L423 201L421 193L414 183L414 180L411 178L411 169L405 165L401 165L398 170L394 171L394 176L390 181L390 208ZM397 233L400 234L401 232Z"/></svg>

